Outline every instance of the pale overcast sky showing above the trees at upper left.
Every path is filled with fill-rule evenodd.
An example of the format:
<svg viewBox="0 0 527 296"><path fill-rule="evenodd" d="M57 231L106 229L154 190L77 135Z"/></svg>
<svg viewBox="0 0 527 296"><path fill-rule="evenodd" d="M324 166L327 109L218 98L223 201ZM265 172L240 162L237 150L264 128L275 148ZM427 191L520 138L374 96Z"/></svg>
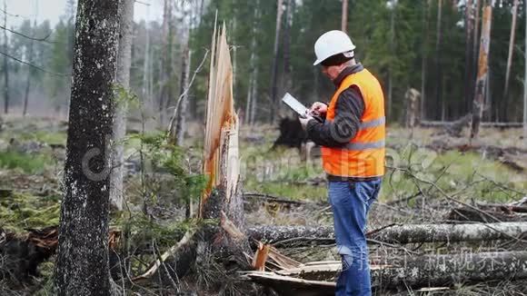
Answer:
<svg viewBox="0 0 527 296"><path fill-rule="evenodd" d="M2 9L4 9L4 1L7 4L7 13L10 14L7 16L7 27L20 25L24 19L33 19L35 11L38 12L38 23L48 19L53 26L59 21L61 15L65 15L66 11L66 0L0 0L0 8ZM149 3L150 8L136 2L134 7L136 21L141 19L161 20L163 0L142 0L141 2ZM2 16L1 21L3 22L4 15L0 13L0 16Z"/></svg>

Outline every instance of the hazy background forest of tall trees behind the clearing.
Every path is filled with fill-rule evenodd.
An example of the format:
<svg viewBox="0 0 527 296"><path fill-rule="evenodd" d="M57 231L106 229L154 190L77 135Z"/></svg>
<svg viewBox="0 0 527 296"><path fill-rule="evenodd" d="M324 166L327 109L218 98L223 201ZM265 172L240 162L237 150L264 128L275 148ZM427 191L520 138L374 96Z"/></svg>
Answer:
<svg viewBox="0 0 527 296"><path fill-rule="evenodd" d="M333 85L313 66L313 44L323 32L341 28L341 1L154 1L163 7L160 21L134 24L130 85L155 125L165 126L174 112L184 85L184 61L191 62L194 74L204 59L216 11L231 33L235 103L245 122L269 123L286 115L277 103L285 92L305 104L329 99ZM522 122L523 1L505 86L513 3L494 3L485 121ZM348 33L358 60L381 80L390 122L403 123L409 88L422 93L425 120L452 121L472 110L481 9L477 0L349 1ZM11 17L8 10L5 6L5 18ZM53 27L49 21L25 19L6 28L17 34L5 30L0 35L3 113L67 115L75 11L75 0L68 0L65 15ZM189 92L190 119L204 118L206 64ZM135 107L131 117L142 109Z"/></svg>

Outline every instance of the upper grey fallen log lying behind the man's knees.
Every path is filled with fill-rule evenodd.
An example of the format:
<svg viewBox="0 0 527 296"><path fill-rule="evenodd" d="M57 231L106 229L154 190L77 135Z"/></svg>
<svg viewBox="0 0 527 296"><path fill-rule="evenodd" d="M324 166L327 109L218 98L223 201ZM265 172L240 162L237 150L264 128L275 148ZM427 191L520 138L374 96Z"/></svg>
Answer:
<svg viewBox="0 0 527 296"><path fill-rule="evenodd" d="M257 226L248 235L259 242L310 244L334 242L333 227ZM527 232L527 222L406 224L368 233L368 239L385 243L477 242L517 238Z"/></svg>

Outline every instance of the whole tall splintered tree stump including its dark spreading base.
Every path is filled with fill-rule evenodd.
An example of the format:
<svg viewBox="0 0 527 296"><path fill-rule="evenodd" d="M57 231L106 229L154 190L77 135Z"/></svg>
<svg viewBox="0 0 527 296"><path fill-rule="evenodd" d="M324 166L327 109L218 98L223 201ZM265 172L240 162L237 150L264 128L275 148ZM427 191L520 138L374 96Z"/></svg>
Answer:
<svg viewBox="0 0 527 296"><path fill-rule="evenodd" d="M183 277L194 264L207 254L218 255L227 265L246 270L250 251L244 235L244 202L239 188L240 161L238 158L238 116L234 111L233 66L227 44L225 26L214 35L209 77L209 93L204 138L204 175L207 176L200 199L198 218L219 222L219 227L204 223L198 230L189 231L184 239L164 254L145 274L135 280L154 277ZM234 271L232 266L229 271ZM167 274L168 273L168 274ZM214 279L225 284L223 279Z"/></svg>

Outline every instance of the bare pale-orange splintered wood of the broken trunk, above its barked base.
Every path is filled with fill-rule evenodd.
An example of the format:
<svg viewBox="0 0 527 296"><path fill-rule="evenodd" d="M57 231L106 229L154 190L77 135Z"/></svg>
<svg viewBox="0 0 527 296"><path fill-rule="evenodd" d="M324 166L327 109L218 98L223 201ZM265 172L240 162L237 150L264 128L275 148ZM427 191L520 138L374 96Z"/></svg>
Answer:
<svg viewBox="0 0 527 296"><path fill-rule="evenodd" d="M239 174L238 116L234 111L233 65L225 25L212 41L209 93L204 139L204 175L208 181L200 202L204 203L216 186L221 186L230 201L236 192Z"/></svg>

